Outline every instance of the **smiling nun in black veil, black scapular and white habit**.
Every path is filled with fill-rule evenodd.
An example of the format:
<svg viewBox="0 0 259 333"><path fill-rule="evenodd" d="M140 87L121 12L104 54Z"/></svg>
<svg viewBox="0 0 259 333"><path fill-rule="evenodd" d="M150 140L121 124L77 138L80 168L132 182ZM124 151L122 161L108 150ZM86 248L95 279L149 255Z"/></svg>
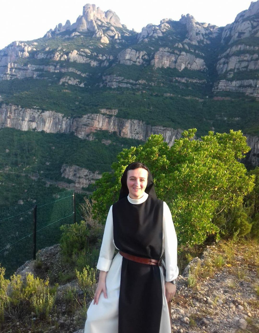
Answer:
<svg viewBox="0 0 259 333"><path fill-rule="evenodd" d="M157 198L152 174L141 162L129 164L121 177L96 267L99 282L84 333L171 333L177 236L170 209Z"/></svg>

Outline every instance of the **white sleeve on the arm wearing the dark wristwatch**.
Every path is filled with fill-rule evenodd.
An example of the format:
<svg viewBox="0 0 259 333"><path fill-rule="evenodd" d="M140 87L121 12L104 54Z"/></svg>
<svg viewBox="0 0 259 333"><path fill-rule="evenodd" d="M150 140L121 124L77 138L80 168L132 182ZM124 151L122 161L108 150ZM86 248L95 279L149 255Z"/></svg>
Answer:
<svg viewBox="0 0 259 333"><path fill-rule="evenodd" d="M163 233L165 237L166 281L175 280L179 274L177 266L177 237L171 211L164 201Z"/></svg>

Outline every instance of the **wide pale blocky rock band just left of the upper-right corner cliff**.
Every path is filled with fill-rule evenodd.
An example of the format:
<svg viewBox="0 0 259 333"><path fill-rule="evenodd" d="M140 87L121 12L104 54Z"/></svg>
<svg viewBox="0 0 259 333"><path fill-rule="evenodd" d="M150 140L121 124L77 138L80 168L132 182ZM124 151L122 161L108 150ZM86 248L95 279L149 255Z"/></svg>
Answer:
<svg viewBox="0 0 259 333"><path fill-rule="evenodd" d="M193 54L182 51L179 54L158 51L154 54L154 59L151 60L151 65L155 68L176 68L182 71L184 68L203 71L206 70L206 65L203 59L196 58Z"/></svg>

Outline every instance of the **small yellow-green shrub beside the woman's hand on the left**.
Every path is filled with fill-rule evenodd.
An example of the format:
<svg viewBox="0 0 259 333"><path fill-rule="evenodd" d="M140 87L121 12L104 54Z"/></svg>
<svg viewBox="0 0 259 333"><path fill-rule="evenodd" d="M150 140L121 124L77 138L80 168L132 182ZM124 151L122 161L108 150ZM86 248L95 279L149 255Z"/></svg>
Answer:
<svg viewBox="0 0 259 333"><path fill-rule="evenodd" d="M86 265L82 273L80 273L77 269L75 269L75 276L78 281L79 287L81 290L86 294L89 295L91 298L94 297L94 285L96 284L95 275L97 273L97 269L90 268Z"/></svg>

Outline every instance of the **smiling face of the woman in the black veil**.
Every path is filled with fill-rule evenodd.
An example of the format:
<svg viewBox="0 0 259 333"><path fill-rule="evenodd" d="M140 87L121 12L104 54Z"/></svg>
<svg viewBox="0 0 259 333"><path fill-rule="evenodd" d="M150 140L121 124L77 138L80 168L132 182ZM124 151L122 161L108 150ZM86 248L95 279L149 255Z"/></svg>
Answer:
<svg viewBox="0 0 259 333"><path fill-rule="evenodd" d="M132 199L139 199L143 196L148 182L148 171L142 167L128 170L127 172L127 186L129 189L129 196Z"/></svg>

